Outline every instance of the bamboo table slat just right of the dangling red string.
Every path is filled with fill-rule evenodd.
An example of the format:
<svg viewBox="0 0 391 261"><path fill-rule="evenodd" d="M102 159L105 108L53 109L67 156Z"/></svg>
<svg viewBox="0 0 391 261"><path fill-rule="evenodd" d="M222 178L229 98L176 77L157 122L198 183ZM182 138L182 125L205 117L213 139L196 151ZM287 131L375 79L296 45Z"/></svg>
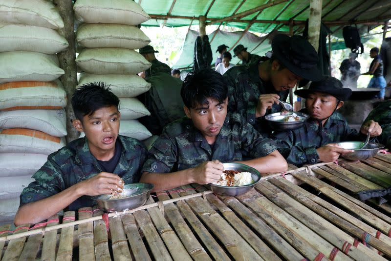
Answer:
<svg viewBox="0 0 391 261"><path fill-rule="evenodd" d="M109 223L114 260L132 260L121 217L111 217Z"/></svg>

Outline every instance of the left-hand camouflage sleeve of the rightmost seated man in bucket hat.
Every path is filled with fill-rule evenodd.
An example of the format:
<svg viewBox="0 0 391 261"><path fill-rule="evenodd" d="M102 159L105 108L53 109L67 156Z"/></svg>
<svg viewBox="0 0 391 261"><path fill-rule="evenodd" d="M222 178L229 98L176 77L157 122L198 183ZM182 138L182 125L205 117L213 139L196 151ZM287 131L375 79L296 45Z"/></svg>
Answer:
<svg viewBox="0 0 391 261"><path fill-rule="evenodd" d="M319 160L315 146L295 145L296 138L293 131L274 133L273 140L276 141L278 151L288 163L302 166L304 164L315 164Z"/></svg>

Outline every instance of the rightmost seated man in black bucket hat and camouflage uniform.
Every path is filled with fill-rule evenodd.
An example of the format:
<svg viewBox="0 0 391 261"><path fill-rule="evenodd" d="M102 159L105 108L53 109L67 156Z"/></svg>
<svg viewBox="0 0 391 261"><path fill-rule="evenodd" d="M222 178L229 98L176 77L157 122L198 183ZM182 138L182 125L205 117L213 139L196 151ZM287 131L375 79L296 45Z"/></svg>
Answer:
<svg viewBox="0 0 391 261"><path fill-rule="evenodd" d="M343 88L342 82L334 77L325 76L321 81L313 81L309 89L297 90L295 94L305 99L305 109L301 112L310 118L298 129L273 133L279 151L288 163L302 166L318 161L336 161L340 154L353 151L340 148L335 142L365 140L368 132L375 137L382 131L373 120L361 126L361 134L350 129L336 110L348 100L351 89Z"/></svg>

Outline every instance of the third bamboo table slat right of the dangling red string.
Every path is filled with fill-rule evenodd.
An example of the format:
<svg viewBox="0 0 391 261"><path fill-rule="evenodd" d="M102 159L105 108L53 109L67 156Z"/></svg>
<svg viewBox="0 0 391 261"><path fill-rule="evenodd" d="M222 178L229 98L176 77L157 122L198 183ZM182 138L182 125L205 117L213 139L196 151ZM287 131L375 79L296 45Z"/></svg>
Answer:
<svg viewBox="0 0 391 261"><path fill-rule="evenodd" d="M145 239L151 249L152 255L155 260L173 260L168 253L163 241L159 234L156 232L155 227L152 224L150 216L145 210L139 210L133 213L138 226L143 231Z"/></svg>

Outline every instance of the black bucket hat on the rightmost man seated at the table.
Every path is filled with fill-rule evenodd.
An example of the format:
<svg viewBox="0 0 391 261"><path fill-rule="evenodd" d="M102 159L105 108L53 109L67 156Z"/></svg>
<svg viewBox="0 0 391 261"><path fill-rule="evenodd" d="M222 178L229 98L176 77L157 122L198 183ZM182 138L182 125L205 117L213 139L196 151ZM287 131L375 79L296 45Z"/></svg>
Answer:
<svg viewBox="0 0 391 261"><path fill-rule="evenodd" d="M311 82L308 89L297 90L295 91L295 94L304 99L307 99L308 94L310 93L322 92L330 94L338 100L345 101L349 99L351 95L351 89L343 88L343 86L344 85L342 82L337 78L325 75L323 76L322 80Z"/></svg>

